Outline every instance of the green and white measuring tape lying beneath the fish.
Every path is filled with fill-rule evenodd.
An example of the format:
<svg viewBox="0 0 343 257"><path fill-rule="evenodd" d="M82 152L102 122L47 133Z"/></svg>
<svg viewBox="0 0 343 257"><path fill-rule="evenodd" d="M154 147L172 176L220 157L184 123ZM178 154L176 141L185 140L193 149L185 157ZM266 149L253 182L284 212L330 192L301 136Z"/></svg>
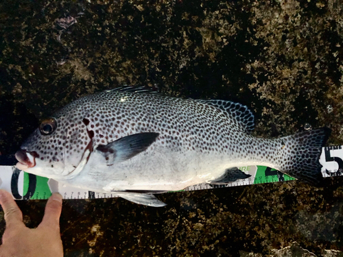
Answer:
<svg viewBox="0 0 343 257"><path fill-rule="evenodd" d="M343 146L323 147L320 156L324 178L343 175ZM248 186L252 184L285 182L295 180L280 171L263 166L238 167L250 178L236 180L225 185L196 184L182 191L196 191L230 186ZM59 192L64 199L95 199L117 197L115 193L97 193L80 188L64 186L56 180L43 178L16 169L14 166L0 166L0 188L12 192L14 199L48 199L52 192Z"/></svg>

